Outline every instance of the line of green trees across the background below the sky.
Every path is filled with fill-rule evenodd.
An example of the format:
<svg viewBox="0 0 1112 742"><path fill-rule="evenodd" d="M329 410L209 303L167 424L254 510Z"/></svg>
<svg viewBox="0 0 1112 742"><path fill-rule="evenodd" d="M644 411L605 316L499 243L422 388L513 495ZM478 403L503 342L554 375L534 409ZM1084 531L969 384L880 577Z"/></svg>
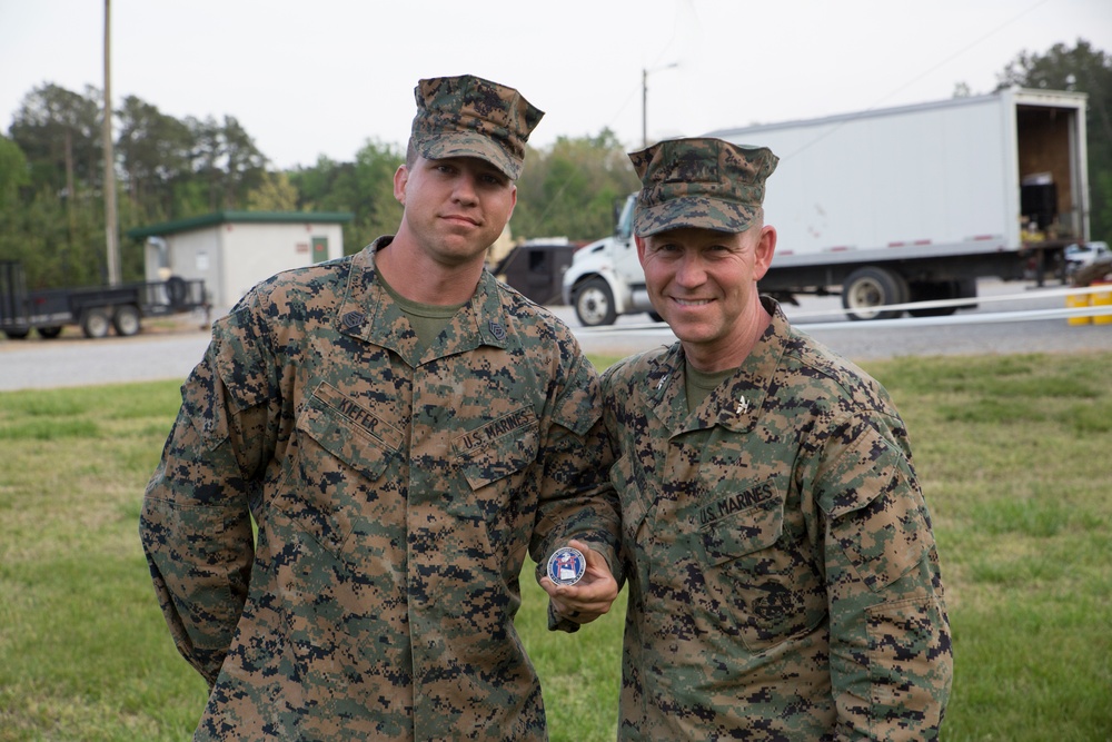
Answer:
<svg viewBox="0 0 1112 742"><path fill-rule="evenodd" d="M1079 39L1022 52L997 89L1089 95L1091 234L1112 236L1112 56ZM964 86L959 93L967 93ZM0 259L23 263L29 287L105 283L102 93L53 83L23 98L0 136ZM135 96L112 111L120 231L222 210L347 211L345 247L358 250L401 217L393 175L404 144L368 140L350 162L326 157L278 170L232 116L177 119ZM529 148L512 221L515 238L597 239L614 204L637 187L626 147L609 129ZM142 245L122 239L125 280L143 277Z"/></svg>

